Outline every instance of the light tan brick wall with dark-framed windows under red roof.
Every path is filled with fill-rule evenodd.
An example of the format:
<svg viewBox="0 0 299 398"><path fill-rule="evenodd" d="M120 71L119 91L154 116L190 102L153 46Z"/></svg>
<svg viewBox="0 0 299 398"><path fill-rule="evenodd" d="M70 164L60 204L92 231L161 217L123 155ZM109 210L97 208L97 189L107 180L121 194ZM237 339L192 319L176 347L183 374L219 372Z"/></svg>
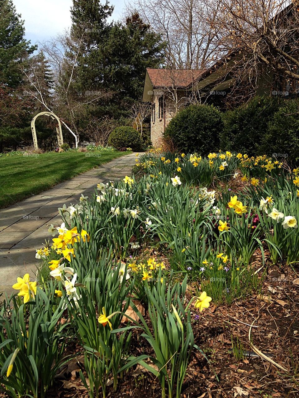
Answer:
<svg viewBox="0 0 299 398"><path fill-rule="evenodd" d="M159 98L164 95L165 99L165 109L164 117L159 118ZM175 105L177 103L177 106ZM160 146L161 140L164 135L164 130L167 127L170 120L176 114L176 109L180 110L186 105L186 92L177 91L176 95L174 92L164 92L154 91L152 95L152 106L154 105L154 121L153 121L153 111L150 118L150 140L152 141L152 146Z"/></svg>

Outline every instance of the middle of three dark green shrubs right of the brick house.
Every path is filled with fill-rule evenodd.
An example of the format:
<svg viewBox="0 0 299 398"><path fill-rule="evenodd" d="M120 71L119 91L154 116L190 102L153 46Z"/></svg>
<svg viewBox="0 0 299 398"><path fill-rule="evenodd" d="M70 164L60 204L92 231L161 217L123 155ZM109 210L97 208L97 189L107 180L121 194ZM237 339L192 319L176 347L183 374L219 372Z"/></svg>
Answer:
<svg viewBox="0 0 299 398"><path fill-rule="evenodd" d="M263 154L268 124L278 107L274 98L254 97L233 111L225 112L224 129L219 132L221 148L249 156ZM271 156L272 153L267 151L267 154Z"/></svg>

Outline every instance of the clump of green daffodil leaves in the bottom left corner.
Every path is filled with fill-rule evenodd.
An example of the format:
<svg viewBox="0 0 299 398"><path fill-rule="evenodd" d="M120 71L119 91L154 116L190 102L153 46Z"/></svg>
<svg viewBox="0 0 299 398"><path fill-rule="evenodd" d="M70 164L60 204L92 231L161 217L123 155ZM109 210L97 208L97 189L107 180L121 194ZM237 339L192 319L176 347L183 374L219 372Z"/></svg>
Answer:
<svg viewBox="0 0 299 398"><path fill-rule="evenodd" d="M65 356L66 339L61 324L63 300L55 298L51 284L47 293L37 288L35 299L26 304L20 298L6 298L0 313L1 383L13 398L43 398L53 384L58 369L70 358ZM10 314L10 315L8 315ZM13 358L13 370L6 377Z"/></svg>

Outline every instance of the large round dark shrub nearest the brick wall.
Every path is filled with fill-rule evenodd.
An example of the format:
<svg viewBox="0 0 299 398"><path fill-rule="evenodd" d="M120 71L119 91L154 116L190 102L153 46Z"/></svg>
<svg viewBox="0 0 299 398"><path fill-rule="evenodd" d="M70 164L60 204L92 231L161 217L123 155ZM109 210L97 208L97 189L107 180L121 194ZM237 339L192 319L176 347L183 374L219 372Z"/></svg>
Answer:
<svg viewBox="0 0 299 398"><path fill-rule="evenodd" d="M219 109L213 105L190 105L172 118L165 137L182 152L198 152L204 156L219 149L222 129Z"/></svg>

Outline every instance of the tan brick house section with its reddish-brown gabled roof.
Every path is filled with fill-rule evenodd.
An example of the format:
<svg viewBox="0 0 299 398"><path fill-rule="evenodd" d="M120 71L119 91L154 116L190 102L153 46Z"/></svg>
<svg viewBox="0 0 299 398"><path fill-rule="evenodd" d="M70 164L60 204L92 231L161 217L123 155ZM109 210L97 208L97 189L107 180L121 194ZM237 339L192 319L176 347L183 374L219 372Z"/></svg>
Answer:
<svg viewBox="0 0 299 398"><path fill-rule="evenodd" d="M150 140L159 146L174 115L190 101L190 91L204 70L147 68L144 102L151 103Z"/></svg>

